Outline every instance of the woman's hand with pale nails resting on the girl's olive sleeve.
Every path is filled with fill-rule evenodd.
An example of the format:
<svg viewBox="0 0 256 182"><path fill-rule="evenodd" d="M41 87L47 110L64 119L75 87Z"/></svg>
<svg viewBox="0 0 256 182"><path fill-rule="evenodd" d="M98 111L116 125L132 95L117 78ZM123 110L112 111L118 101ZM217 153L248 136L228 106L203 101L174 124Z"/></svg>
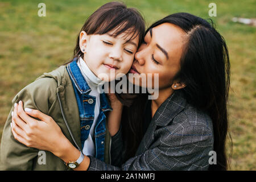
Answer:
<svg viewBox="0 0 256 182"><path fill-rule="evenodd" d="M25 111L22 101L14 105L11 122L14 138L28 147L50 151L56 155L63 142L67 142L60 127L51 117L39 110L25 108Z"/></svg>

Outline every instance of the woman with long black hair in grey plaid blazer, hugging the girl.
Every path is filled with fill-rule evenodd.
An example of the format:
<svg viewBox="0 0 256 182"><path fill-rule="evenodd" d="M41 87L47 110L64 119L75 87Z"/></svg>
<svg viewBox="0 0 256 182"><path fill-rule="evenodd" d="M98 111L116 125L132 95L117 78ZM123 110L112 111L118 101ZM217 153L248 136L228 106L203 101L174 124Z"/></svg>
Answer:
<svg viewBox="0 0 256 182"><path fill-rule="evenodd" d="M129 108L111 97L108 127L111 164L115 166L84 156L76 169L225 170L229 69L225 41L206 20L177 13L152 24L135 54L131 72L159 73L159 97L147 101L146 94L141 94ZM153 77L153 81L157 80ZM12 125L19 142L51 151L65 163L79 159L80 151L40 111L24 113L20 103ZM210 151L216 152L217 164L209 165Z"/></svg>

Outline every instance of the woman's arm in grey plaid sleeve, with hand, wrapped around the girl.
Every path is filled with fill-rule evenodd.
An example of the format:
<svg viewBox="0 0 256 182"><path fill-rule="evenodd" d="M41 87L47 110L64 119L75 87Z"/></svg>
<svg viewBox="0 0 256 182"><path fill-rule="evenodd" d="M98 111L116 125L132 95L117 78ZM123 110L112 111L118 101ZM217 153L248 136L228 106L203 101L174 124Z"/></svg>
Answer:
<svg viewBox="0 0 256 182"><path fill-rule="evenodd" d="M26 115L26 113L24 114L24 116L22 115L23 108L21 105L18 106L18 110L20 110L18 111L18 113L21 118L18 120L16 119L16 121L13 121L13 123L17 123L17 125L22 127L22 129L30 127L31 123L30 121L28 121L29 119L27 118L29 116ZM34 111L35 110L32 110L32 113ZM32 113L29 114L42 119L42 121L35 122L34 125L37 125L36 127L40 126L42 123L46 123L46 126L48 126L42 127L40 130L33 129L32 133L30 135L27 135L25 132L20 132L19 130L14 129L14 126L16 127L16 125L13 124L12 131L13 133L15 133L14 135L20 135L20 137L16 137L16 139L22 143L25 141L24 144L26 144L27 141L32 141L32 147L35 148L42 147L42 143L38 142L41 140L43 141L43 143L48 143L48 146L43 146L44 150L52 151L54 155L64 160L64 162L77 160L79 158L80 151L72 146L72 144L67 139L65 139L65 137L63 137L63 135L54 134L54 131L52 129L49 129L50 126L55 128L52 124L55 123L55 121L53 121L47 115L42 115L40 111L36 111L36 114ZM184 117L181 118L184 119ZM23 120L26 121L26 123ZM82 161L80 166L76 168L76 170L208 169L209 151L213 150L212 131L209 130L208 127L205 127L205 125L198 124L196 126L193 126L191 125L191 122L185 121L183 122L183 126L180 126L180 123L173 123L172 125L167 125L159 128L157 134L155 133L155 129L152 129L154 133L147 133L147 137L144 137L144 140L142 140L142 146L140 147L144 147L142 148L143 152L127 160L125 163L122 164L121 167L115 167L105 164L101 160L98 160L92 156L85 156L84 160ZM24 122L25 124L23 123L23 125L20 125L20 122ZM45 136L46 133L47 136ZM154 140L150 139L152 135L154 135ZM151 140L152 142L150 143L150 148L147 148L147 146L143 146L143 144L145 145L148 140ZM56 146L53 147L52 144L49 144L51 142L55 142Z"/></svg>

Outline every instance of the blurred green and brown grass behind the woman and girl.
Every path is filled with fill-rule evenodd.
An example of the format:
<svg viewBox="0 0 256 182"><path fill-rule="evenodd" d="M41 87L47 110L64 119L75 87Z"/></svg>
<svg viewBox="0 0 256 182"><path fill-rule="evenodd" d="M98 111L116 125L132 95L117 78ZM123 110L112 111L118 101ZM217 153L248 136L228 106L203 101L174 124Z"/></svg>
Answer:
<svg viewBox="0 0 256 182"><path fill-rule="evenodd" d="M38 16L38 4L46 4L46 17ZM72 58L80 28L86 18L109 1L0 1L0 138L11 100L43 72ZM187 12L212 18L228 44L232 68L229 122L233 139L230 170L256 169L256 27L233 23L236 17L256 18L256 1L170 0L124 1L143 14L147 26L164 16ZM217 16L209 17L209 3ZM230 147L227 146L230 151Z"/></svg>

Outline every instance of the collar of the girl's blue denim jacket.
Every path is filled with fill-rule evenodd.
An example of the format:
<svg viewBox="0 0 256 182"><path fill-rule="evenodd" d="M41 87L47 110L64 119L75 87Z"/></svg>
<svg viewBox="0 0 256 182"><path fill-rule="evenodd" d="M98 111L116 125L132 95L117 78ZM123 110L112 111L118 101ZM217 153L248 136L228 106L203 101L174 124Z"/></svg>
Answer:
<svg viewBox="0 0 256 182"><path fill-rule="evenodd" d="M80 94L89 94L92 89L90 89L84 76L82 76L82 73L76 61L77 57L73 59L73 61L67 66L69 76L71 77L71 80L75 83L75 86ZM112 107L110 107L108 98L106 97L105 93L100 94L100 102L103 111L112 110Z"/></svg>

